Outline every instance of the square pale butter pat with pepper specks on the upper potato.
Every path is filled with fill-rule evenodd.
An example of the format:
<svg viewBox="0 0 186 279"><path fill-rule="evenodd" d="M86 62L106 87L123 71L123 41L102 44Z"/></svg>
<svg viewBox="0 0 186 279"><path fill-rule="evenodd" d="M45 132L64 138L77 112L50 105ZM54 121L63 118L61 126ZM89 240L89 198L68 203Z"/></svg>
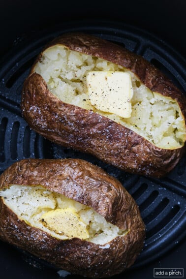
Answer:
<svg viewBox="0 0 186 279"><path fill-rule="evenodd" d="M126 72L90 71L87 87L91 104L98 110L129 118L133 89Z"/></svg>

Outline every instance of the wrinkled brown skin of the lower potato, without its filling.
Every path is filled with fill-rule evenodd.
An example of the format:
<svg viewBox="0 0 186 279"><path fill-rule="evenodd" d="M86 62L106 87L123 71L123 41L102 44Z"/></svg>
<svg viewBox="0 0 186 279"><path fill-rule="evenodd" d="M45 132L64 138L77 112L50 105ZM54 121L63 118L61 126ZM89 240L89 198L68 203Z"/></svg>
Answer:
<svg viewBox="0 0 186 279"><path fill-rule="evenodd" d="M29 251L59 269L90 278L104 278L123 272L141 252L145 226L139 209L115 178L81 159L25 159L0 176L0 189L12 184L44 186L92 207L107 221L129 229L109 242L109 248L74 238L59 240L31 227L0 198L0 239Z"/></svg>

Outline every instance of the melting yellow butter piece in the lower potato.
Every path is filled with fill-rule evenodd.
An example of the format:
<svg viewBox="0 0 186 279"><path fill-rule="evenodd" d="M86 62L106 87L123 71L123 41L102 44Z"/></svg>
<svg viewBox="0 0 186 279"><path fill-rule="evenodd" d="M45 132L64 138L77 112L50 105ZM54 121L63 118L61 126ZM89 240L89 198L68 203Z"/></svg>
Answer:
<svg viewBox="0 0 186 279"><path fill-rule="evenodd" d="M41 222L55 233L66 236L66 239L89 238L86 224L73 208L51 210L42 215Z"/></svg>

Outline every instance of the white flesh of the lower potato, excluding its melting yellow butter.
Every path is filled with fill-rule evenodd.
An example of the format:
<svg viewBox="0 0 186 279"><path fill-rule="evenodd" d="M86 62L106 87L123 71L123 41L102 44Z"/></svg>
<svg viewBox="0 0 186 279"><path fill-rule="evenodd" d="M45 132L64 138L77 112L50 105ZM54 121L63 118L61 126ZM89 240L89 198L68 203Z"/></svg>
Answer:
<svg viewBox="0 0 186 279"><path fill-rule="evenodd" d="M62 194L51 192L41 186L12 185L0 191L3 202L26 223L58 239L69 239L65 235L49 230L42 223L43 214L55 210L72 208L80 216L89 232L89 242L104 245L117 236L123 236L127 231L122 231L117 226L107 222L104 217L92 208L65 197Z"/></svg>

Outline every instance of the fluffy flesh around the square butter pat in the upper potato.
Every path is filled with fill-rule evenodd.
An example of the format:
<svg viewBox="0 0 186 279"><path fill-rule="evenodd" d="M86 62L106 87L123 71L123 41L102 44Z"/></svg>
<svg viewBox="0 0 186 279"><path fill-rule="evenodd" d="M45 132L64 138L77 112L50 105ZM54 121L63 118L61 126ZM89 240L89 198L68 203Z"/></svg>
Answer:
<svg viewBox="0 0 186 279"><path fill-rule="evenodd" d="M157 147L176 149L185 143L185 121L177 101L152 92L131 71L120 65L55 45L43 52L34 71L43 77L51 93L63 102L110 118ZM131 75L133 97L130 118L100 111L91 104L86 79L90 71L125 71Z"/></svg>

